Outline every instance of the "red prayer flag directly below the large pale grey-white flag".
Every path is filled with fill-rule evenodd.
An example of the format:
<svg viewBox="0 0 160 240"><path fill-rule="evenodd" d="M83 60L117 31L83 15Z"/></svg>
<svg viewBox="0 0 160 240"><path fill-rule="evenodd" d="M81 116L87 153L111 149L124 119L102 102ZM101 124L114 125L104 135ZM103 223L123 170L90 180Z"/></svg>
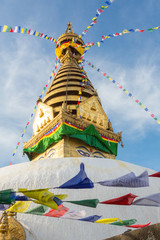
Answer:
<svg viewBox="0 0 160 240"><path fill-rule="evenodd" d="M101 204L114 204L114 205L131 205L133 200L138 197L132 193L124 195L119 198L113 198L104 202L100 202Z"/></svg>

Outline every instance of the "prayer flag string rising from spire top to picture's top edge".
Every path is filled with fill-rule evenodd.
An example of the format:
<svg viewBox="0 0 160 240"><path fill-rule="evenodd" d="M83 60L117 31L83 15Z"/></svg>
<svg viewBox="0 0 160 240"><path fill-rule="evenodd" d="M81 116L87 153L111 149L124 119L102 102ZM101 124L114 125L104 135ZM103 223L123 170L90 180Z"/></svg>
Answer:
<svg viewBox="0 0 160 240"><path fill-rule="evenodd" d="M88 29L91 28L91 27L93 27L93 26L97 23L97 18L103 13L103 11L104 11L106 8L108 8L108 7L112 4L113 1L114 1L114 0L105 1L106 6L101 6L100 8L97 9L97 11L96 11L96 12L97 12L97 13L96 13L96 16L95 16L94 18L92 18L91 24L90 24L88 27L86 27L86 29L82 32L81 35L79 35L79 37L86 35Z"/></svg>

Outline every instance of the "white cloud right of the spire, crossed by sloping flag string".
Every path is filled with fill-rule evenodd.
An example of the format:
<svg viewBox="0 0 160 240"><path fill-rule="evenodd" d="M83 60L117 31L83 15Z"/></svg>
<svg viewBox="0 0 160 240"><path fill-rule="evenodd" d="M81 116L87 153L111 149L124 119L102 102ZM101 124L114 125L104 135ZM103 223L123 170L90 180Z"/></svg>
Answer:
<svg viewBox="0 0 160 240"><path fill-rule="evenodd" d="M145 57L149 56L146 54ZM110 77L131 92L160 120L159 67L156 65L157 61L155 59L148 58L150 60L147 63L145 57L139 59L132 68L102 59L91 62L97 68L100 67L103 72L109 70L107 74ZM158 129L159 125L156 121L132 98L128 97L127 94L100 73L96 73L94 69L87 67L87 70L89 78L98 90L104 110L108 117L111 118L113 127L118 131L123 130L132 137L133 132L138 135L145 135L148 128ZM137 134L134 134L134 136L137 137Z"/></svg>

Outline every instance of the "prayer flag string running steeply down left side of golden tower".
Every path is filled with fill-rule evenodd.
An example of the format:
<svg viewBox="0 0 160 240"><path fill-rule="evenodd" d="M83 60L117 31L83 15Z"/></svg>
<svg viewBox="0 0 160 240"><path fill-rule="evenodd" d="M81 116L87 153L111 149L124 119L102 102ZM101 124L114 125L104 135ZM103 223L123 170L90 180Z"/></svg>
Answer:
<svg viewBox="0 0 160 240"><path fill-rule="evenodd" d="M41 95L39 96L39 98L42 98L45 90L47 89L47 87L48 87L48 85L49 85L49 83L50 83L51 80L55 77L56 71L57 71L57 65L58 65L58 64L59 64L59 60L58 60L58 58L56 57L55 64L54 64L55 67L54 67L54 69L53 69L53 71L52 71L52 73L51 73L51 75L50 75L50 78L48 79L47 84L43 87L43 90L42 90ZM28 125L30 124L30 121L32 120L32 118L33 118L33 116L34 116L34 112L36 111L37 106L38 106L38 100L37 100L37 102L36 102L36 104L35 104L35 106L34 106L34 108L33 108L33 111L32 111L32 113L31 113L31 115L30 115L30 118L29 118L28 122L26 123L26 126L25 126L25 128L24 128L24 131L23 131L23 133L22 133L22 135L21 135L21 137L20 137L20 139L19 139L19 141L18 141L18 143L17 143L17 145L16 145L16 148L15 148L13 154L12 154L11 161L10 161L10 165L12 164L13 157L16 155L17 149L19 148L19 145L20 145L20 143L21 143L21 141L22 141L22 138L24 137L24 134L25 134L25 132L26 132L26 130L27 130L27 128L28 128Z"/></svg>

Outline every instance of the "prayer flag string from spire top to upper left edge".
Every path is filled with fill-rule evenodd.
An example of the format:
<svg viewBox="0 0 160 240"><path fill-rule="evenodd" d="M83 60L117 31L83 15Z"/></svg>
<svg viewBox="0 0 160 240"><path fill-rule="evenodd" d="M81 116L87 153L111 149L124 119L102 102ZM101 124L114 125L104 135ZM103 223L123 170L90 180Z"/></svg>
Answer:
<svg viewBox="0 0 160 240"><path fill-rule="evenodd" d="M40 33L40 32L34 31L32 29L23 28L21 26L11 27L11 26L7 26L7 25L3 25L3 26L0 26L0 32L22 33L22 34L32 35L35 37L44 38L44 39L49 40L54 43L56 43L56 41L57 41L54 37L50 37L45 33Z"/></svg>

